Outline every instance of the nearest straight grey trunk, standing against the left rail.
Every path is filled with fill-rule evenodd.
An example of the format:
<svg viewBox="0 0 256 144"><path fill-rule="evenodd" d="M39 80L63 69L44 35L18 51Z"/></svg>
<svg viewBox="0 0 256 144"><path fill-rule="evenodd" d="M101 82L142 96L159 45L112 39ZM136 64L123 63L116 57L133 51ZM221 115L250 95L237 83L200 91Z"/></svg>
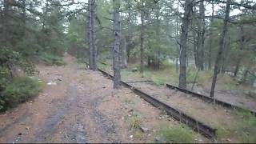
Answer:
<svg viewBox="0 0 256 144"><path fill-rule="evenodd" d="M114 51L113 51L113 70L114 70L114 89L120 89L121 75L119 65L119 46L120 46L120 2L113 0L114 2Z"/></svg>

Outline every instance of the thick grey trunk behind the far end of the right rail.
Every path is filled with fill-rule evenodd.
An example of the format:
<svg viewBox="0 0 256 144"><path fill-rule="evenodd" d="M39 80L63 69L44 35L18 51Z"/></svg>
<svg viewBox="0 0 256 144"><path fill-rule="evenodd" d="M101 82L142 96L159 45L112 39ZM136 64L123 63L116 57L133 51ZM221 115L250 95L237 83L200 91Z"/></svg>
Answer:
<svg viewBox="0 0 256 144"><path fill-rule="evenodd" d="M182 35L181 35L181 54L180 54L180 71L178 86L186 89L186 50L187 50L187 34L189 30L189 16L191 10L191 1L186 0L184 6L184 16L182 18Z"/></svg>

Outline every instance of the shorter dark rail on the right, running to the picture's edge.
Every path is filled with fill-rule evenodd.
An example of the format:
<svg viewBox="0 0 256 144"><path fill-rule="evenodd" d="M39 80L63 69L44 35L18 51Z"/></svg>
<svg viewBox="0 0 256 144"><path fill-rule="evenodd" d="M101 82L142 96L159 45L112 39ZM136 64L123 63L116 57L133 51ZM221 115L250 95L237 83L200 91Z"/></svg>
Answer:
<svg viewBox="0 0 256 144"><path fill-rule="evenodd" d="M212 97L209 97L209 96L206 96L206 95L203 95L203 94L198 94L198 93L196 93L194 91L182 89L182 88L180 88L178 86L173 86L173 85L170 85L168 83L166 83L166 87L171 89L171 90L178 90L178 91L181 91L181 92L186 93L186 94L191 94L192 96L200 98L200 99L202 99L205 102L209 102L209 103L210 102L214 102L214 103L216 103L218 105L221 105L223 107L226 107L228 109L248 110L248 109L242 108L240 106L235 106L232 103L223 102L223 101L218 100L216 98L212 98ZM250 112L250 114L253 114L256 117L256 111L255 110L248 110L248 111Z"/></svg>

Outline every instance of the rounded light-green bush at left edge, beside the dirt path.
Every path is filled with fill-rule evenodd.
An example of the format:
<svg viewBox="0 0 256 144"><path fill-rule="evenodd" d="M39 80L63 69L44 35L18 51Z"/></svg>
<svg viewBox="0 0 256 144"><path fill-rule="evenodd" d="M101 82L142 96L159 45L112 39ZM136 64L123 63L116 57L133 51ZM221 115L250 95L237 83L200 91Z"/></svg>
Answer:
<svg viewBox="0 0 256 144"><path fill-rule="evenodd" d="M1 93L1 108L6 110L18 106L39 94L41 84L30 77L19 76L6 82Z"/></svg>

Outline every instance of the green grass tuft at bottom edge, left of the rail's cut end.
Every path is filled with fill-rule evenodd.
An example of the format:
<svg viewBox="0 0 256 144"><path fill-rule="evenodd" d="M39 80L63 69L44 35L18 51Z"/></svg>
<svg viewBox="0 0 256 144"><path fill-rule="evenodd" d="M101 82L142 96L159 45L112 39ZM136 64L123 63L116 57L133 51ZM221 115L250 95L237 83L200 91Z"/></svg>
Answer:
<svg viewBox="0 0 256 144"><path fill-rule="evenodd" d="M160 125L157 130L160 139L168 143L192 143L195 139L194 131L188 126L166 126Z"/></svg>

